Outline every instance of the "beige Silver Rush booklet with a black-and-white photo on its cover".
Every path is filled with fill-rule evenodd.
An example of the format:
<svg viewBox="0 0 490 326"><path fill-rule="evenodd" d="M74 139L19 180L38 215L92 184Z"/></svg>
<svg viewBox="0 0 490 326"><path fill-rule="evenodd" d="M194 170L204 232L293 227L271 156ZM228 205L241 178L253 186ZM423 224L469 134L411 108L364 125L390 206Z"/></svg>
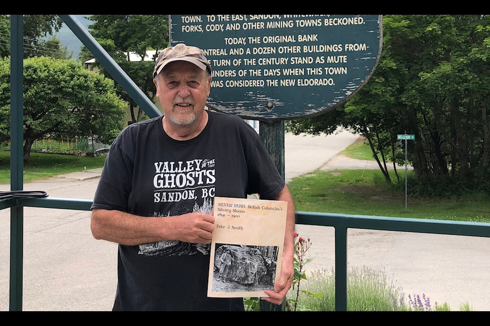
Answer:
<svg viewBox="0 0 490 326"><path fill-rule="evenodd" d="M281 274L287 202L214 198L208 296L267 296Z"/></svg>

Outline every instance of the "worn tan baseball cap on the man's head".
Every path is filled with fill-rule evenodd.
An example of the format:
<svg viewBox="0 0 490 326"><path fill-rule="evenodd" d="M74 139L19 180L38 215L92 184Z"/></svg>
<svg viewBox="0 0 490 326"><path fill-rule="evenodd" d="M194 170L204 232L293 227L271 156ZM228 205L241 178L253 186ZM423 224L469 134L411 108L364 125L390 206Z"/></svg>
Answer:
<svg viewBox="0 0 490 326"><path fill-rule="evenodd" d="M153 78L155 78L168 63L179 60L191 62L202 70L207 69L209 73L211 73L211 65L206 57L204 57L204 51L202 49L179 43L175 46L167 47L160 52L160 55L158 55L155 62L155 68L153 69Z"/></svg>

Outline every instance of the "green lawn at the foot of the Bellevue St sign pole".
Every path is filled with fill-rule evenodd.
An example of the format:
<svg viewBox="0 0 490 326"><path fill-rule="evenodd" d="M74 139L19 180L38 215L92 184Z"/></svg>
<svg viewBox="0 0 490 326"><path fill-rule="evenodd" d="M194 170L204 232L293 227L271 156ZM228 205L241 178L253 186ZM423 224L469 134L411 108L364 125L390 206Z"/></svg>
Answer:
<svg viewBox="0 0 490 326"><path fill-rule="evenodd" d="M380 186L383 182L378 170L334 170L293 178L288 186L297 211L490 222L485 194L448 200L408 197L405 210L405 192Z"/></svg>

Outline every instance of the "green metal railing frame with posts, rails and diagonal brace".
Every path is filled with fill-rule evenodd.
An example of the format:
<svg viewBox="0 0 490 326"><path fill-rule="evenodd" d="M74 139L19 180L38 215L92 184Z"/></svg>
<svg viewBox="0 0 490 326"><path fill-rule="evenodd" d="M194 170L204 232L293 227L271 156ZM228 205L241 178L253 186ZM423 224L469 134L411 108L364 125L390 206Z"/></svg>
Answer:
<svg viewBox="0 0 490 326"><path fill-rule="evenodd" d="M60 15L72 32L87 46L114 79L149 117L161 115L155 105L85 30L74 16ZM22 157L22 16L11 16L11 190L23 187ZM90 210L91 200L66 198L16 198L0 200L0 209L10 208L10 310L22 310L23 207ZM335 310L347 311L347 231L370 229L433 234L490 237L490 223L436 221L297 211L297 224L335 229Z"/></svg>

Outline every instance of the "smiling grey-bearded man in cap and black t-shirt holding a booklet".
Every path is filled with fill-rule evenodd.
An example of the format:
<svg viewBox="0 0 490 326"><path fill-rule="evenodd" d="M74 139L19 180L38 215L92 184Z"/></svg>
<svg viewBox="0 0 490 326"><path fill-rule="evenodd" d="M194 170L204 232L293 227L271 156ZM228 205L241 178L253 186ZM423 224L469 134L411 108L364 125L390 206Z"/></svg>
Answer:
<svg viewBox="0 0 490 326"><path fill-rule="evenodd" d="M293 277L295 210L257 132L205 110L211 66L197 47L161 51L153 72L164 115L126 127L97 187L94 238L119 244L113 310L244 310L242 298L207 297L214 196L288 202L281 276L267 300L281 304Z"/></svg>

